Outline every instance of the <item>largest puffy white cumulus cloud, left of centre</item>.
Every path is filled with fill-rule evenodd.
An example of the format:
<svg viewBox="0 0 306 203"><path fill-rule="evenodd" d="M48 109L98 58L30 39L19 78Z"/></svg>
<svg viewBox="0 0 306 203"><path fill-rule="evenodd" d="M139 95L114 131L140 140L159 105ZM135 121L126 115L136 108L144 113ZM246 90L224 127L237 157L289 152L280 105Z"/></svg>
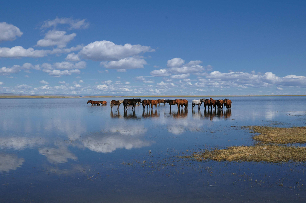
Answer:
<svg viewBox="0 0 306 203"><path fill-rule="evenodd" d="M119 61L140 53L155 51L150 46L125 44L117 45L110 41L95 41L82 48L79 55L93 61Z"/></svg>

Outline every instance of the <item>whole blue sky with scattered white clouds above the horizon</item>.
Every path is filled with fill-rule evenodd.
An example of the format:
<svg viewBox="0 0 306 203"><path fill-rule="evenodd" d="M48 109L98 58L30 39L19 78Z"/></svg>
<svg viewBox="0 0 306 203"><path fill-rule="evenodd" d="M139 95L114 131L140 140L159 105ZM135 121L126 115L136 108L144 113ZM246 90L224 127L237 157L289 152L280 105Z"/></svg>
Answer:
<svg viewBox="0 0 306 203"><path fill-rule="evenodd" d="M305 1L6 1L0 93L306 94Z"/></svg>

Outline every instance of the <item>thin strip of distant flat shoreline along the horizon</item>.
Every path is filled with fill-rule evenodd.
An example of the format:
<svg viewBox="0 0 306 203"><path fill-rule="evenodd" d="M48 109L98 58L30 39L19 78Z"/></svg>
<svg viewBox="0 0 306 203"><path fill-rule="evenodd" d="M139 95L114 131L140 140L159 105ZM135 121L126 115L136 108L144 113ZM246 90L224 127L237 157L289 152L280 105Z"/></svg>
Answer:
<svg viewBox="0 0 306 203"><path fill-rule="evenodd" d="M297 97L306 95L144 95L144 96L14 96L14 95L0 95L0 98L164 98L164 97Z"/></svg>

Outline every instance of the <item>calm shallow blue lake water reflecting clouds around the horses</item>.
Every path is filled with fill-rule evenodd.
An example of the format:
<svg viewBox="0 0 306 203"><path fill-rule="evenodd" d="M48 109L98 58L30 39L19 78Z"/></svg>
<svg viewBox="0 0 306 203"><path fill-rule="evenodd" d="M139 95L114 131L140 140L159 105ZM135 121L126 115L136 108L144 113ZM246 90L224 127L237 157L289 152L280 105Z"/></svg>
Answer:
<svg viewBox="0 0 306 203"><path fill-rule="evenodd" d="M305 126L306 97L232 97L215 112L193 111L200 98L111 111L112 99L0 99L0 202L304 202L304 162L177 156L253 145L241 126Z"/></svg>

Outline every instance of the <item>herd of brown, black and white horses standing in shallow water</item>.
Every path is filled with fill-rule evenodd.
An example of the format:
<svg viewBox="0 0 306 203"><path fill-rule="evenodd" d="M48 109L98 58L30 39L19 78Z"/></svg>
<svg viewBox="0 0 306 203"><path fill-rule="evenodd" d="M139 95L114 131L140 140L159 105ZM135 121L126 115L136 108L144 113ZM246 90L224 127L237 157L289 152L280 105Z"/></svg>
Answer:
<svg viewBox="0 0 306 203"><path fill-rule="evenodd" d="M93 101L93 100L88 100L87 103L91 103L91 105L106 105L106 101ZM157 105L160 105L160 103L163 103L164 105L166 105L166 103L168 103L170 105L170 109L171 109L171 105L177 105L177 109L187 109L188 108L188 101L186 99L144 99L141 100L140 98L137 99L124 99L124 100L112 100L110 101L110 108L113 109L113 106L118 106L117 109L119 109L119 106L123 103L123 107L124 109L128 109L127 105L132 105L132 110L135 109L136 105L140 105L142 104L142 107L144 109L153 109L153 106L156 109ZM218 99L215 100L213 98L209 98L209 99L194 99L192 100L192 109L195 108L195 105L198 105L198 109L200 109L202 103L204 104L204 108L206 110L206 107L209 109L223 109L223 106L226 109L232 109L232 101L229 99Z"/></svg>

